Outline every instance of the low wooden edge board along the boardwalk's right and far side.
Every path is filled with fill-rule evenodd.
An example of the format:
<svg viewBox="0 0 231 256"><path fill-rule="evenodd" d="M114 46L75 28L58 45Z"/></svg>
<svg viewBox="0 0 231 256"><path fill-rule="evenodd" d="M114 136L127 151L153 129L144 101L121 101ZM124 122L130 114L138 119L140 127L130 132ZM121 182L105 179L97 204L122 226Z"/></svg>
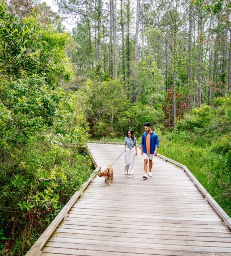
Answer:
<svg viewBox="0 0 231 256"><path fill-rule="evenodd" d="M89 141L89 143L100 143L100 144L123 144L121 143L116 143L116 142L96 142L96 141ZM141 148L141 145L137 144L137 146L139 148ZM201 193L204 195L205 197L205 201L207 203L210 203L212 205L212 207L217 211L217 213L220 215L220 217L223 219L223 224L226 227L226 229L228 231L231 231L231 218L228 216L228 214L218 205L218 203L214 200L214 198L209 194L209 192L200 184L200 182L197 180L197 178L189 171L189 169L181 164L178 163L174 160L172 160L171 158L168 158L166 156L163 156L159 153L157 153L157 156L159 158L162 158L164 161L166 162L170 162L173 163L174 165L177 165L179 167L181 167L187 174L188 176L193 180L193 184L195 187L197 187Z"/></svg>

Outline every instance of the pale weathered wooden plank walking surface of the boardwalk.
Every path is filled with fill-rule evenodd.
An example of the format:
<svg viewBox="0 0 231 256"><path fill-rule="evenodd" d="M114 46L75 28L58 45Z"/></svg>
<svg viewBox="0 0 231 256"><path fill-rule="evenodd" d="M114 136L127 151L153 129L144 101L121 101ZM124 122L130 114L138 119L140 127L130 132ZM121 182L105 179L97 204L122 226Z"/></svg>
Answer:
<svg viewBox="0 0 231 256"><path fill-rule="evenodd" d="M123 150L122 145L89 147L101 169ZM88 185L41 248L43 255L231 255L231 233L181 168L154 157L153 176L144 180L138 148L128 178L124 158L114 164L111 186L98 176Z"/></svg>

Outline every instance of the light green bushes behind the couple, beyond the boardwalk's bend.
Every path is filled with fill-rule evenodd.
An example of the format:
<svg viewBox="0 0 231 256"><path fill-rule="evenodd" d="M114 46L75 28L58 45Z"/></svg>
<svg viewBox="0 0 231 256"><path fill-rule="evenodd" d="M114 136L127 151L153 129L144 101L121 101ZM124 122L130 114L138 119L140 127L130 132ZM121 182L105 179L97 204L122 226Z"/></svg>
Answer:
<svg viewBox="0 0 231 256"><path fill-rule="evenodd" d="M93 126L93 136L123 136L129 128L139 136L143 133L145 122L159 127L164 120L164 112L158 105L154 109L140 102L129 104L123 85L118 80L104 81L101 85L88 80L87 86L90 95L87 113Z"/></svg>

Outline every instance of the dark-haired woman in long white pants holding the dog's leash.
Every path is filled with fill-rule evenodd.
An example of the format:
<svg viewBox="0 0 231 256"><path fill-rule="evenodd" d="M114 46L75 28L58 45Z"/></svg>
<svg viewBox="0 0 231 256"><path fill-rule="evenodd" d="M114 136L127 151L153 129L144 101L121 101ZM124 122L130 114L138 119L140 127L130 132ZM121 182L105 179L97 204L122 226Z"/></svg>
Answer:
<svg viewBox="0 0 231 256"><path fill-rule="evenodd" d="M131 178L135 169L135 156L137 156L136 138L132 129L128 129L127 137L124 139L124 151L126 151L124 171L127 171L128 177Z"/></svg>

